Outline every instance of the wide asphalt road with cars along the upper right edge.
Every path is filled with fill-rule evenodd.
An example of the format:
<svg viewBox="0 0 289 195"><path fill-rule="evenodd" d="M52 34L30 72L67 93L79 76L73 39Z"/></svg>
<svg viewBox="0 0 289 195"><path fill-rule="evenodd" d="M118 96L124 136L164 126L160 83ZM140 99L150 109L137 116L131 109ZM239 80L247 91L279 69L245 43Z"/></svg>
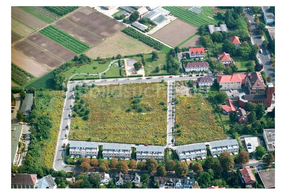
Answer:
<svg viewBox="0 0 289 195"><path fill-rule="evenodd" d="M260 51L258 51L258 58L259 61L261 61L261 63L263 64L263 69L266 73L266 76L268 77L269 75L272 76L272 82L275 84L275 73L274 73L274 69L270 63L270 52L267 48L265 48L262 43L262 39L260 38L260 34L258 33L256 26L255 26L255 22L254 22L254 18L252 15L249 14L248 9L244 9L244 12L246 13L246 16L249 17L249 20L251 20L251 26L252 26L252 30L253 30L253 35L251 37L251 41L253 44L258 43L260 46L260 49L263 50L263 54L260 53Z"/></svg>

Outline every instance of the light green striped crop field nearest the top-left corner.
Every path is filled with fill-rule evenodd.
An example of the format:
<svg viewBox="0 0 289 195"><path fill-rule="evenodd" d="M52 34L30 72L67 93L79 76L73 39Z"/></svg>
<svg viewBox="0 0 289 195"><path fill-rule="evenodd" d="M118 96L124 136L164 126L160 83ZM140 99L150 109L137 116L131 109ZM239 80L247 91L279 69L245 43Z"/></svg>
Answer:
<svg viewBox="0 0 289 195"><path fill-rule="evenodd" d="M25 12L35 16L39 20L50 24L51 22L54 22L58 16L52 14L51 12L48 12L47 10L43 9L42 7L32 7L32 6L21 6L19 7L21 10L24 10Z"/></svg>

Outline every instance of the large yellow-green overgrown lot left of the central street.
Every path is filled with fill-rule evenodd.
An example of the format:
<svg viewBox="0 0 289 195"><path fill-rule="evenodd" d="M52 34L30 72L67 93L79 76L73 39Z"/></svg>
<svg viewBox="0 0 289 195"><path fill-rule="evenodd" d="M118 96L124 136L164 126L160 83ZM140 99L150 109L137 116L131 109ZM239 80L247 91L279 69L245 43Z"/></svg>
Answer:
<svg viewBox="0 0 289 195"><path fill-rule="evenodd" d="M140 94L143 96L134 98ZM167 112L160 105L167 100L166 83L95 86L81 98L89 103L89 119L72 119L70 139L166 144ZM142 111L133 108L136 99L140 99L137 106Z"/></svg>

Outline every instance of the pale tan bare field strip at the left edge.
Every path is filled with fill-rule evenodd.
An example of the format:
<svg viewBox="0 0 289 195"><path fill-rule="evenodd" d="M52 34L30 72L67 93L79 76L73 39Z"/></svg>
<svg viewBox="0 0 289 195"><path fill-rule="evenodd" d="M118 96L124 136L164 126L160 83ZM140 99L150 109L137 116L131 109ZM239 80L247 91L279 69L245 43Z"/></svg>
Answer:
<svg viewBox="0 0 289 195"><path fill-rule="evenodd" d="M35 77L40 77L41 75L50 71L50 68L42 65L42 63L39 63L32 58L29 58L28 56L25 56L22 52L14 49L13 47L11 48L11 61Z"/></svg>

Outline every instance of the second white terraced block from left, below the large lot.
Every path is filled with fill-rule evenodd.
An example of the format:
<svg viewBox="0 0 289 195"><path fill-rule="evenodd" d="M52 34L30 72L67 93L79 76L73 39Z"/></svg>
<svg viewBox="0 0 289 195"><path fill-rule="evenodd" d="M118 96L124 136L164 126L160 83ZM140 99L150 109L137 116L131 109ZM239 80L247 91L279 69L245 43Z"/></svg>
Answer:
<svg viewBox="0 0 289 195"><path fill-rule="evenodd" d="M102 148L102 156L105 159L120 158L128 160L131 158L131 145L105 143Z"/></svg>

